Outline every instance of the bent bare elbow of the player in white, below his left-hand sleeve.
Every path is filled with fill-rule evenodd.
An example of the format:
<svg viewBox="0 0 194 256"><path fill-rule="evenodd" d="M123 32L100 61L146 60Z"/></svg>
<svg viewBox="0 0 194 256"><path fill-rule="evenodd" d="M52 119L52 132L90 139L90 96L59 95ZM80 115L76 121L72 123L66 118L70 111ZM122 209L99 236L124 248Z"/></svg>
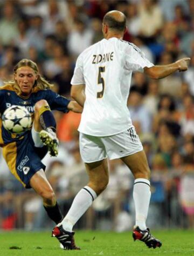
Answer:
<svg viewBox="0 0 194 256"><path fill-rule="evenodd" d="M82 107L86 100L85 95L85 84L72 85L71 87L71 97L78 102Z"/></svg>

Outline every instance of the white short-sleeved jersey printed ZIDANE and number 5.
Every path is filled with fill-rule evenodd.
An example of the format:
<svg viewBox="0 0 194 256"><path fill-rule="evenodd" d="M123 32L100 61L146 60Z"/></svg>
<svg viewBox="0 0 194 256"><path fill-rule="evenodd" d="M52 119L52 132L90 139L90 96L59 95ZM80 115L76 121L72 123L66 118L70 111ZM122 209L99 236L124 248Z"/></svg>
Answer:
<svg viewBox="0 0 194 256"><path fill-rule="evenodd" d="M115 37L83 51L71 80L72 85L85 84L86 101L78 131L101 137L129 129L127 99L132 72L151 66L134 44Z"/></svg>

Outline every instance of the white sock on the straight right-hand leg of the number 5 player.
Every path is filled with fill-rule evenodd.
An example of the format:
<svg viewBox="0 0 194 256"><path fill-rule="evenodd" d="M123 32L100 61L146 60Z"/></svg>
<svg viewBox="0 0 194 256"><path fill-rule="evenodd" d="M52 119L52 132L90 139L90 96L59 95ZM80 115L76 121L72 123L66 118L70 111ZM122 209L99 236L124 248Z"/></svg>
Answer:
<svg viewBox="0 0 194 256"><path fill-rule="evenodd" d="M135 225L141 230L146 230L145 221L148 215L151 197L150 181L147 179L135 179L133 198L135 203Z"/></svg>

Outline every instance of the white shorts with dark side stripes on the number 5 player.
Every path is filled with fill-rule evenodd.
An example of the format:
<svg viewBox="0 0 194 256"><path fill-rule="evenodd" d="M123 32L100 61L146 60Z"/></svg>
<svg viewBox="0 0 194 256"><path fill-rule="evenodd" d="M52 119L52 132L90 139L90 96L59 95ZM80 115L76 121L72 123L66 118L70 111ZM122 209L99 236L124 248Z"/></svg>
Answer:
<svg viewBox="0 0 194 256"><path fill-rule="evenodd" d="M84 163L93 163L107 157L110 160L126 157L143 150L133 126L125 132L105 137L95 137L80 132L79 140L80 154Z"/></svg>

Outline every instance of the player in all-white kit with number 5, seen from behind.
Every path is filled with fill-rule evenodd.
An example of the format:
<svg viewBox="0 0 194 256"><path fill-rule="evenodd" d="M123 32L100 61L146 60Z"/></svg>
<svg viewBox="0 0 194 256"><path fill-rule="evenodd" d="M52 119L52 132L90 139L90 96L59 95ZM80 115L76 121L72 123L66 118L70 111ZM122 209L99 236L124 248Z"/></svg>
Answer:
<svg viewBox="0 0 194 256"><path fill-rule="evenodd" d="M125 30L124 14L120 11L108 12L102 23L104 39L82 52L75 66L71 96L84 106L78 130L80 153L89 182L75 196L64 220L53 229L52 235L66 250L79 250L74 243L72 228L108 184L107 157L120 158L135 178L134 240L141 240L150 248L162 245L145 225L151 196L150 169L131 123L127 99L133 71L159 79L175 71L187 70L186 62L190 58L155 66L134 44L122 41Z"/></svg>

